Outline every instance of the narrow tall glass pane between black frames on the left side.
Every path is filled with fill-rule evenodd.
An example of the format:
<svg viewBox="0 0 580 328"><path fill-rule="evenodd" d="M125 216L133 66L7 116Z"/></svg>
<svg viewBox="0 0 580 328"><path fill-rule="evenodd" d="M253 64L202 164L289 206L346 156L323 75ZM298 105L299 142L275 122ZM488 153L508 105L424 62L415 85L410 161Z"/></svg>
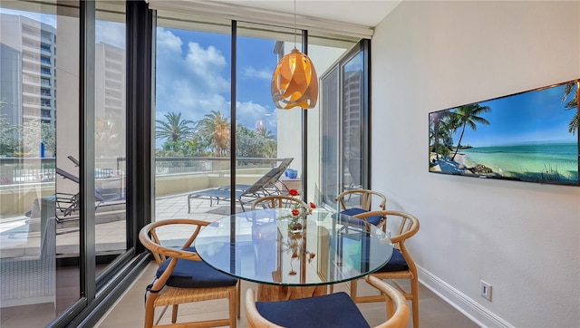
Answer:
<svg viewBox="0 0 580 328"><path fill-rule="evenodd" d="M125 5L96 5L95 249L99 272L127 249L125 212Z"/></svg>

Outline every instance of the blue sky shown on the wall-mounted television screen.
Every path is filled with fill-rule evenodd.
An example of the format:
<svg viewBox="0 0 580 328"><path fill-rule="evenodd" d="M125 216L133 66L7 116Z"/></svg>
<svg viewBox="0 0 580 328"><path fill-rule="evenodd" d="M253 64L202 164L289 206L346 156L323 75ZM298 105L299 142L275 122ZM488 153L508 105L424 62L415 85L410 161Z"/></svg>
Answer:
<svg viewBox="0 0 580 328"><path fill-rule="evenodd" d="M570 101L572 93L565 102ZM527 142L577 142L578 135L568 132L575 110L565 110L564 86L478 102L491 111L482 113L489 125L478 124L476 131L466 127L461 144L473 147L514 145ZM453 135L458 142L461 130Z"/></svg>

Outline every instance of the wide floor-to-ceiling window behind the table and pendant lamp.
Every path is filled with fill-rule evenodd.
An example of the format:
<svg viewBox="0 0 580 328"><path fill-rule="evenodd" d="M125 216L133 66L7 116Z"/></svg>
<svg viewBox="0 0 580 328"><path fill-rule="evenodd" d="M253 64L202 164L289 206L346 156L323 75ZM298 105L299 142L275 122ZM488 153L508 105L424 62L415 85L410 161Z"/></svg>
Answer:
<svg viewBox="0 0 580 328"><path fill-rule="evenodd" d="M292 28L208 21L165 10L157 12L156 31L156 219L213 220L245 210L251 197L237 195L260 183L284 159L292 160L288 169L295 172L266 187L283 193L295 188L320 202L321 172L340 169L320 165L321 152L330 146L321 138L324 114L335 115L341 107L329 106L331 112L322 112L321 92L321 101L305 115L299 108L277 109L271 94L275 66L293 48L302 50L303 34ZM324 74L358 38L319 33L310 40L309 56ZM304 177L310 181L307 190Z"/></svg>

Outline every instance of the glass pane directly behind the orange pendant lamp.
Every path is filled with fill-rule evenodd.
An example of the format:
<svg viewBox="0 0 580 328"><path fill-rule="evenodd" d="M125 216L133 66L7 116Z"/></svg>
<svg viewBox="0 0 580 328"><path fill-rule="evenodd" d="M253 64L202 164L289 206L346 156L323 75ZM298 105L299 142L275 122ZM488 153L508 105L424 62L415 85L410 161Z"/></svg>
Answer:
<svg viewBox="0 0 580 328"><path fill-rule="evenodd" d="M271 92L277 63L294 47L294 30L240 23L237 34L237 187L301 190L302 112L277 109Z"/></svg>

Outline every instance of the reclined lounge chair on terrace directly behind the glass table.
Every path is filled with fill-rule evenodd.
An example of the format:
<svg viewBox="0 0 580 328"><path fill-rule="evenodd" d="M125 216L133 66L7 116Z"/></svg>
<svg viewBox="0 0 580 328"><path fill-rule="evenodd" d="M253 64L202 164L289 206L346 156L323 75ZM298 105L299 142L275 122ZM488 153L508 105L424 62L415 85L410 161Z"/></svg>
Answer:
<svg viewBox="0 0 580 328"><path fill-rule="evenodd" d="M292 161L292 159L289 159L289 161L285 159L282 161L282 163L287 162L289 165L290 161ZM272 188L272 186L275 186L275 181L280 178L286 168L287 165L284 167L283 164L280 164L274 169L270 169L266 175L264 175L262 178L259 178L253 185L236 185L235 200L239 202L242 210L246 211L244 204L251 203L257 198L270 195L272 192L266 188ZM231 189L220 187L198 190L190 193L188 195L188 213L191 213L191 199L193 198L209 199L209 206L211 207L214 200L217 202L220 200L230 200Z"/></svg>

